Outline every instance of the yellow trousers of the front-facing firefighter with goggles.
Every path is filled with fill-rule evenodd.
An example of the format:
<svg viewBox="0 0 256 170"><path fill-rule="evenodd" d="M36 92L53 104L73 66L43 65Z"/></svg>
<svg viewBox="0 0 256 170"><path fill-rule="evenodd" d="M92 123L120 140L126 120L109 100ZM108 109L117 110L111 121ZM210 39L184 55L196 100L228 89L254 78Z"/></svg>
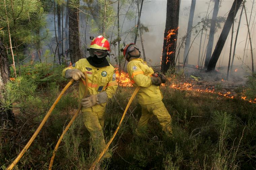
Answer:
<svg viewBox="0 0 256 170"><path fill-rule="evenodd" d="M105 110L98 112L82 112L85 127L90 132L95 153L99 153L105 147L103 135Z"/></svg>

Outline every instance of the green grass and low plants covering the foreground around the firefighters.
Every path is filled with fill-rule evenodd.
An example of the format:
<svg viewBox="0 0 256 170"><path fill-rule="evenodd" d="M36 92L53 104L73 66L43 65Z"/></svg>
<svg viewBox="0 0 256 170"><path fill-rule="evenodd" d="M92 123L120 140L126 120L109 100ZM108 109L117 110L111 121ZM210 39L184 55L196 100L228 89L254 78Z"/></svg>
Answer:
<svg viewBox="0 0 256 170"><path fill-rule="evenodd" d="M38 69L40 70L40 69ZM37 73L36 73L37 74ZM52 78L57 76L52 76ZM57 77L58 78L58 77ZM34 78L38 82L37 78ZM178 80L174 80L178 81ZM0 130L0 165L5 169L20 153L38 127L47 108L66 83L37 83L31 97L21 104L17 125ZM104 136L113 135L134 88L119 87L109 99L105 114ZM113 143L112 157L98 169L253 169L256 164L256 104L213 93L181 91L161 87L163 102L172 117L173 136L167 137L153 117L147 135L134 134L141 115L134 99ZM18 102L18 101L17 101ZM28 152L15 169L47 169L59 135L77 108L77 84L56 106ZM90 135L79 115L65 135L53 169L88 169L96 155Z"/></svg>

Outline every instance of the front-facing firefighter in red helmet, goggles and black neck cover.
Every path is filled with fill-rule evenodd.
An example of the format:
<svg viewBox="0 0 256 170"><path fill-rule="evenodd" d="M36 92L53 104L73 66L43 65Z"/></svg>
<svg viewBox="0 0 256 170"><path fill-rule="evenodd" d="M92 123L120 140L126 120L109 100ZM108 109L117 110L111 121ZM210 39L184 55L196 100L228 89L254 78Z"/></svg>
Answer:
<svg viewBox="0 0 256 170"><path fill-rule="evenodd" d="M94 38L91 42L88 58L79 59L72 66L65 68L62 72L63 77L72 78L75 81L80 78L88 77L89 96L83 98L85 92L85 81L79 81L79 99L82 103L83 121L90 132L93 148L96 153L101 152L106 146L103 127L106 102L116 92L116 74L113 66L109 64L106 56L109 42L103 36ZM105 158L111 157L107 152Z"/></svg>

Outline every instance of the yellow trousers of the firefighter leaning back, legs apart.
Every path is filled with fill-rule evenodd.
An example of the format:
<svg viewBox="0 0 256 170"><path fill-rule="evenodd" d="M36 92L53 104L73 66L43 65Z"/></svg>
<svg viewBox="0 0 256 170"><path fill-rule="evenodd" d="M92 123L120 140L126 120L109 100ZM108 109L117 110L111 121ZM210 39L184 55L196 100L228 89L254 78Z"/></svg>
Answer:
<svg viewBox="0 0 256 170"><path fill-rule="evenodd" d="M167 136L172 135L171 130L171 116L164 106L162 101L158 101L151 104L140 104L141 105L141 117L138 122L138 126L135 129L135 133L138 136L143 134L143 130L147 128L149 119L155 115L159 120L162 130Z"/></svg>

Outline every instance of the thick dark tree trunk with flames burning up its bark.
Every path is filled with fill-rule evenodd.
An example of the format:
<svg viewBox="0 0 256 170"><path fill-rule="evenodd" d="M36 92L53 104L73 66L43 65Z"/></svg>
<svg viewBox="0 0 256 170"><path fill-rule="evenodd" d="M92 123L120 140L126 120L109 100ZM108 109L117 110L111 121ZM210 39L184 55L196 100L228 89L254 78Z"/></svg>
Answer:
<svg viewBox="0 0 256 170"><path fill-rule="evenodd" d="M167 0L166 23L161 60L161 71L163 73L166 73L169 69L171 69L172 73L175 71L175 49L178 37L179 11L179 0Z"/></svg>

